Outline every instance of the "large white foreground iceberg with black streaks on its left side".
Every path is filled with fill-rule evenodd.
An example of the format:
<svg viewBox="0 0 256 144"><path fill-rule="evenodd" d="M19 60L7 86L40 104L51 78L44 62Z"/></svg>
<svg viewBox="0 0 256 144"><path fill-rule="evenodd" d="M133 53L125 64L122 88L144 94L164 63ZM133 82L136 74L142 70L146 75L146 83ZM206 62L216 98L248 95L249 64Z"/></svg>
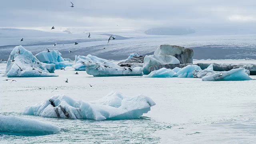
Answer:
<svg viewBox="0 0 256 144"><path fill-rule="evenodd" d="M154 105L155 102L147 96L126 98L119 92L111 92L100 100L91 102L56 95L25 108L23 114L50 118L124 120L140 118Z"/></svg>

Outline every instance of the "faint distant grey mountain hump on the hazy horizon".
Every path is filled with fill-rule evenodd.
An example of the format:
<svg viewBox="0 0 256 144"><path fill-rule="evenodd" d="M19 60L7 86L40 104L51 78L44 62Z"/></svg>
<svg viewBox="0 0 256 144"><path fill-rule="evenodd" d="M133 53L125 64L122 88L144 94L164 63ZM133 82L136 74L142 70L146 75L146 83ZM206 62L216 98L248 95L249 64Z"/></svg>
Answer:
<svg viewBox="0 0 256 144"><path fill-rule="evenodd" d="M151 28L144 33L148 35L168 35L168 36L181 36L184 34L194 34L196 31L186 28Z"/></svg>

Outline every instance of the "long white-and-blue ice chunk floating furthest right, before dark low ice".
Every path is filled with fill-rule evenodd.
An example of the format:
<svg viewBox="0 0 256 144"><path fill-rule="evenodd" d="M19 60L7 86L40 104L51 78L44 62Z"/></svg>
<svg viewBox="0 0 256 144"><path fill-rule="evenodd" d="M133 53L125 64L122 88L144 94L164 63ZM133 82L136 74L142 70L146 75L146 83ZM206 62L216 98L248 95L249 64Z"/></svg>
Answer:
<svg viewBox="0 0 256 144"><path fill-rule="evenodd" d="M213 70L195 70L193 72L197 78L202 78L202 81L239 81L252 80L250 71L245 68L236 68L227 72L215 72Z"/></svg>

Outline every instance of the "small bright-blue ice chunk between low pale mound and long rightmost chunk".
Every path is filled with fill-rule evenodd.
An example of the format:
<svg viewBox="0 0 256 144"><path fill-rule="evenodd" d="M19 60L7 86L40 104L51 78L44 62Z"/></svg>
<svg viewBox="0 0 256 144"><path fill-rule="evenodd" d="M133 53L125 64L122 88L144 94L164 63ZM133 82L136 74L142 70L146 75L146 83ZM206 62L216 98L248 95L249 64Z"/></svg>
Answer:
<svg viewBox="0 0 256 144"><path fill-rule="evenodd" d="M181 70L179 70L173 77L178 78L193 78L193 71L194 70L201 70L201 68L197 65L188 65Z"/></svg>

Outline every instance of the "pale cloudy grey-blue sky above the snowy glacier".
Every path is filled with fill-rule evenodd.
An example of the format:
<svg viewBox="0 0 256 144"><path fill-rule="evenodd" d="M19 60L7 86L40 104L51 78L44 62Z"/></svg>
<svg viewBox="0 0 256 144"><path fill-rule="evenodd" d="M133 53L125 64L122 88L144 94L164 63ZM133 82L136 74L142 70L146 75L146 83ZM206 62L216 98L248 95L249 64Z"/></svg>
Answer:
<svg viewBox="0 0 256 144"><path fill-rule="evenodd" d="M255 0L4 0L1 28L254 30ZM118 25L118 26L117 26Z"/></svg>

